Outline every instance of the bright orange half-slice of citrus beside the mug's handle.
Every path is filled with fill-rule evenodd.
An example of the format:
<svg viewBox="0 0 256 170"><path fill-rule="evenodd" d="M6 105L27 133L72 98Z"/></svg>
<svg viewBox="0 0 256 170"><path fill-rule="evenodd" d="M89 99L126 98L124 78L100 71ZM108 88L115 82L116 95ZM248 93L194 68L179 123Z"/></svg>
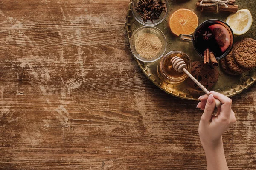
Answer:
<svg viewBox="0 0 256 170"><path fill-rule="evenodd" d="M189 9L175 11L169 20L169 27L173 34L193 34L198 27L197 15Z"/></svg>

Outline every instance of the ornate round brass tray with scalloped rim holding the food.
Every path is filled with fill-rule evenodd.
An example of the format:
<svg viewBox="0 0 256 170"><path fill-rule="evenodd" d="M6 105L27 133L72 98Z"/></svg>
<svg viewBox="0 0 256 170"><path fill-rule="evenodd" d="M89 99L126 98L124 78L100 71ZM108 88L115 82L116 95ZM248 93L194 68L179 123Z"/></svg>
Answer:
<svg viewBox="0 0 256 170"><path fill-rule="evenodd" d="M168 20L170 15L179 8L187 8L194 11L198 15L199 24L205 20L209 19L219 19L225 21L230 13L201 13L200 10L196 9L195 3L198 0L168 0L169 11L166 19L157 25L156 27L159 28L166 36L167 40L167 48L166 52L179 50L183 51L189 55L192 62L202 60L199 57L194 48L192 43L184 42L179 40L178 37L175 37L171 34L170 29L168 28ZM242 36L235 36L235 42L241 40L245 37L250 37L256 39L256 2L255 0L236 0L236 4L239 6L239 9L249 9L252 16L253 16L253 25L246 34ZM132 33L137 29L142 27L140 23L138 23L132 15L131 11L131 2L129 3L127 16L126 16L126 31L128 40L130 40ZM135 57L134 57L135 58ZM137 60L137 59L136 59ZM146 63L137 60L138 65L142 69L143 73L160 89L165 91L168 94L173 96L188 99L188 100L197 100L199 96L203 95L203 91L197 91L189 85L187 85L186 81L179 83L179 84L169 84L160 80L157 75L157 65L159 60L153 63ZM220 69L218 67L218 69ZM220 69L220 76L218 82L215 86L211 89L212 91L217 91L225 96L232 97L236 94L241 93L244 89L249 88L253 83L256 81L256 69L251 69L250 71L246 71L239 76L230 76L224 74Z"/></svg>

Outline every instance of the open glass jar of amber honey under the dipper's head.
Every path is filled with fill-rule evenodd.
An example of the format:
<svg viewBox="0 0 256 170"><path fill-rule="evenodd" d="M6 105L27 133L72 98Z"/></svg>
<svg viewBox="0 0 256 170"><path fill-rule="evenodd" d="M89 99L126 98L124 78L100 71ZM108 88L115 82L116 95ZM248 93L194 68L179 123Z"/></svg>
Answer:
<svg viewBox="0 0 256 170"><path fill-rule="evenodd" d="M181 51L170 51L161 58L157 66L157 74L160 79L170 84L180 83L188 78L188 76L184 72L180 73L172 68L171 59L175 56L183 59L187 65L187 71L191 71L191 59L187 54Z"/></svg>

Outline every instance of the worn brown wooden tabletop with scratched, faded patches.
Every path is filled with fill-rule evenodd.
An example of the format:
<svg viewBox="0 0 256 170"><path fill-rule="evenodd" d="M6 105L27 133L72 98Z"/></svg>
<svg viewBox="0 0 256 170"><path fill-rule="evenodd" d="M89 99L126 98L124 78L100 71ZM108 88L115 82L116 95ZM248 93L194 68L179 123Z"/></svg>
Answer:
<svg viewBox="0 0 256 170"><path fill-rule="evenodd" d="M198 102L129 49L129 0L0 1L0 168L205 170ZM233 97L230 170L256 169L256 85Z"/></svg>

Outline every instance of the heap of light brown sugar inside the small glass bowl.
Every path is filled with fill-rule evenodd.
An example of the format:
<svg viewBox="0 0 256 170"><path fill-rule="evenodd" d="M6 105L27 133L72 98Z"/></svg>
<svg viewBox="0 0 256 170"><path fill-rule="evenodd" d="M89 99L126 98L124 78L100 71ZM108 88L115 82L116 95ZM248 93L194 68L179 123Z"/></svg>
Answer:
<svg viewBox="0 0 256 170"><path fill-rule="evenodd" d="M162 42L154 34L141 34L135 40L135 49L141 57L150 59L159 54L162 49Z"/></svg>

